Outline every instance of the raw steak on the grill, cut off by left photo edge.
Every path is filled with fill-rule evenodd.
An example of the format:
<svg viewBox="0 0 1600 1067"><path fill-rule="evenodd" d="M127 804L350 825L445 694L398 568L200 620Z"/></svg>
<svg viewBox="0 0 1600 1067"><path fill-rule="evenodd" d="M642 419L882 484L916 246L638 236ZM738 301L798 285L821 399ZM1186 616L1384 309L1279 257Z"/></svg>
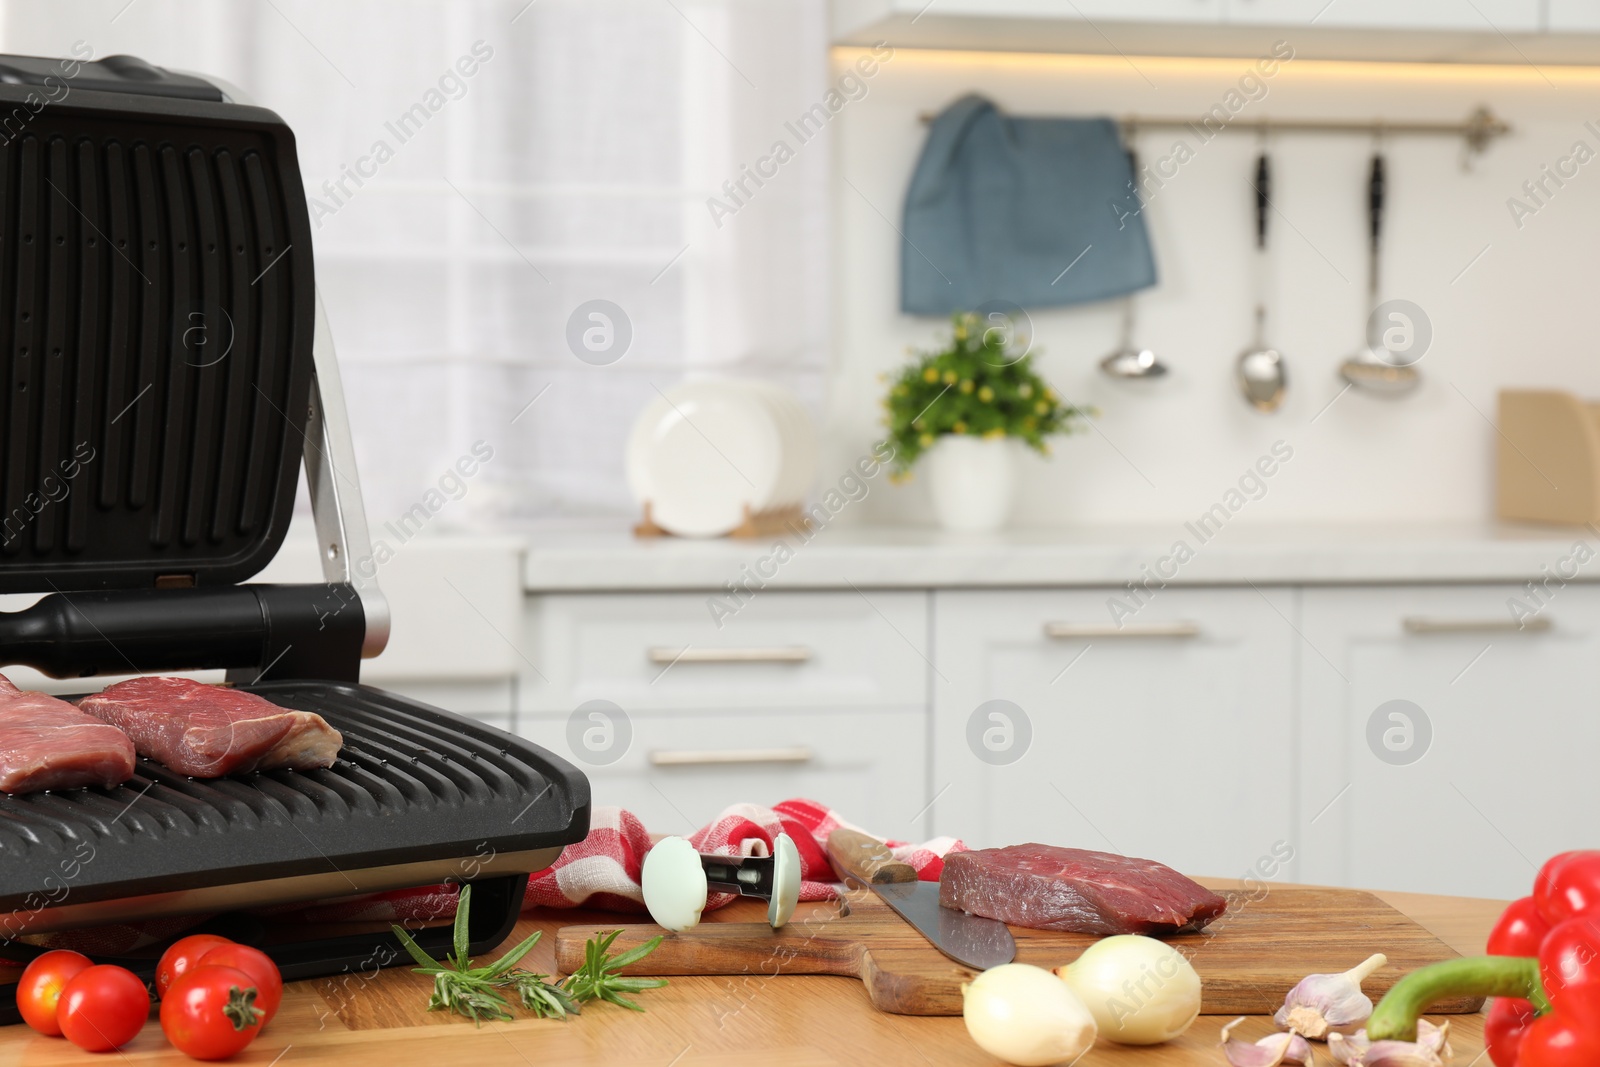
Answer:
<svg viewBox="0 0 1600 1067"><path fill-rule="evenodd" d="M0 675L0 792L118 785L133 763L128 734Z"/></svg>

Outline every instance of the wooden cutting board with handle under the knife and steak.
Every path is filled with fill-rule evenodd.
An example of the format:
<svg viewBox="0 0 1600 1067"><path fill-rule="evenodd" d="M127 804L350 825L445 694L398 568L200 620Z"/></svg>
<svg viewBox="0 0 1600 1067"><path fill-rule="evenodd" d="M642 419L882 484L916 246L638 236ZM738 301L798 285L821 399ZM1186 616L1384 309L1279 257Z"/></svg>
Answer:
<svg viewBox="0 0 1600 1067"><path fill-rule="evenodd" d="M1227 912L1198 934L1171 944L1189 957L1202 981L1202 1014L1272 1014L1283 995L1307 974L1344 971L1374 952L1389 965L1363 989L1376 1003L1408 971L1458 953L1438 937L1357 889L1272 889L1256 899L1224 893ZM654 925L565 926L555 934L557 966L582 963L584 942L621 929L614 950L662 933ZM1019 963L1059 966L1093 944L1088 934L1013 926ZM941 955L875 894L851 891L838 912L797 920L782 929L766 923L701 923L667 934L627 974L840 974L859 977L880 1011L907 1016L962 1014L962 982L973 971ZM1483 998L1446 1001L1430 1014L1472 1013Z"/></svg>

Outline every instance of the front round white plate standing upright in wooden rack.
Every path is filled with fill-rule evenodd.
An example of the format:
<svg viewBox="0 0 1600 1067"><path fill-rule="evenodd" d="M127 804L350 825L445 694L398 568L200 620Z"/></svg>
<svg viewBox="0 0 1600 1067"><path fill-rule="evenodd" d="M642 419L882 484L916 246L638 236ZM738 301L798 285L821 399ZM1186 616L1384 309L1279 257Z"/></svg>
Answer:
<svg viewBox="0 0 1600 1067"><path fill-rule="evenodd" d="M627 448L629 486L680 537L715 537L770 507L784 470L784 432L744 382L688 382L650 403Z"/></svg>

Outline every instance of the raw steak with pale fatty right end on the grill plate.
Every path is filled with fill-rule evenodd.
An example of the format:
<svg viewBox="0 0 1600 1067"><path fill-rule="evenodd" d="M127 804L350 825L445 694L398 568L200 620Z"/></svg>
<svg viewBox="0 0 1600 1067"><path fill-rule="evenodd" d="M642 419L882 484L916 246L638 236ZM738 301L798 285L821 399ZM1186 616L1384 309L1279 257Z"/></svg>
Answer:
<svg viewBox="0 0 1600 1067"><path fill-rule="evenodd" d="M189 678L130 678L78 707L126 731L139 755L190 777L333 766L344 744L322 715Z"/></svg>

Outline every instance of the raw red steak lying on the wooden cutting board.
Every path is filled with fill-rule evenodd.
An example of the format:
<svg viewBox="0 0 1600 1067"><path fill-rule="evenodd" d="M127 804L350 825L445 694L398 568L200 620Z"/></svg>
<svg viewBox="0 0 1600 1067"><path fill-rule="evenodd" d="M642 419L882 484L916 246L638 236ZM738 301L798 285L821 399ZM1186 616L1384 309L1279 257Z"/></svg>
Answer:
<svg viewBox="0 0 1600 1067"><path fill-rule="evenodd" d="M939 904L1013 926L1157 937L1202 929L1227 907L1152 859L1053 845L946 856Z"/></svg>

